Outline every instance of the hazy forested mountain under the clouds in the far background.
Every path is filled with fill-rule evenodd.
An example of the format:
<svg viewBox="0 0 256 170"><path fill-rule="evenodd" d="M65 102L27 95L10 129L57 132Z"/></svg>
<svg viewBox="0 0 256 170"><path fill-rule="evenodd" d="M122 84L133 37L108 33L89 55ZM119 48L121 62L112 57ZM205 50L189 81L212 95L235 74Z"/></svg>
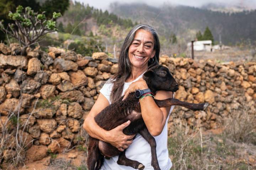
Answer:
<svg viewBox="0 0 256 170"><path fill-rule="evenodd" d="M207 26L214 39L219 40L221 34L225 44L235 44L241 39L256 41L256 10L224 13L189 6L113 3L110 11L133 22L149 23L160 35L169 37L175 33L185 41L194 39L196 32L203 32Z"/></svg>

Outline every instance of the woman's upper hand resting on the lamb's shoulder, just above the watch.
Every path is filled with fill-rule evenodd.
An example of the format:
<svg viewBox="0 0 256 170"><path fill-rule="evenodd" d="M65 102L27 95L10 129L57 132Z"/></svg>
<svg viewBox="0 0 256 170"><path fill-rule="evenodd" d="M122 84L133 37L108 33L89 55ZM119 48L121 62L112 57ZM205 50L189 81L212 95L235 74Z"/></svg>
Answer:
<svg viewBox="0 0 256 170"><path fill-rule="evenodd" d="M123 100L125 100L130 93L135 92L136 90L144 89L148 89L148 85L143 78L140 78L139 80L129 85L128 89L126 89L126 91L124 92Z"/></svg>

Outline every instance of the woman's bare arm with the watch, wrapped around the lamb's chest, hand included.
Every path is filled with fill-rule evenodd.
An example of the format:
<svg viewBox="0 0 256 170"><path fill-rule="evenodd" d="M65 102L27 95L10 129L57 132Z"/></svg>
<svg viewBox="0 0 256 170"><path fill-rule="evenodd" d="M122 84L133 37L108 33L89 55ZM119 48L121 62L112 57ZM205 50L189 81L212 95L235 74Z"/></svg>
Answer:
<svg viewBox="0 0 256 170"><path fill-rule="evenodd" d="M128 96L129 93L135 92L138 89L148 89L146 81L142 78L130 84L128 89L125 91L123 100ZM171 98L172 92L158 91L155 97L158 100ZM143 100L140 100L140 107L142 111L142 118L150 134L152 136L160 135L164 129L164 125L171 107L159 108L151 96L146 96L143 98Z"/></svg>

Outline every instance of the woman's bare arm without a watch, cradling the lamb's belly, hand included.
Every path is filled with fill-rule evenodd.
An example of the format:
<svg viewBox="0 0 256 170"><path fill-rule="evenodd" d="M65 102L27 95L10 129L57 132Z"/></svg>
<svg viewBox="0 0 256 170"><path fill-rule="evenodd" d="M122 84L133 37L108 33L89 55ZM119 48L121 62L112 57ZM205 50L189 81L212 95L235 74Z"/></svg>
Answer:
<svg viewBox="0 0 256 170"><path fill-rule="evenodd" d="M95 116L108 105L108 100L100 93L97 101L94 103L94 106L85 118L83 128L91 137L110 143L120 151L123 151L132 143L131 139L134 137L134 135L127 136L123 134L123 129L130 124L130 121L127 121L126 123L123 123L110 131L107 131L98 126L94 119Z"/></svg>

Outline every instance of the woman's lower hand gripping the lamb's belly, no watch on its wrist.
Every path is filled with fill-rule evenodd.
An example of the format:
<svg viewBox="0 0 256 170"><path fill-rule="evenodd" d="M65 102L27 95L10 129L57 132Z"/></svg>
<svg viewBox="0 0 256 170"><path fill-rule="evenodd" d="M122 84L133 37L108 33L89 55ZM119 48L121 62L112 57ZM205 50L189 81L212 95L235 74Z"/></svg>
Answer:
<svg viewBox="0 0 256 170"><path fill-rule="evenodd" d="M116 147L119 151L124 151L124 149L127 149L129 145L132 144L132 138L135 136L125 135L123 133L123 129L129 126L129 124L130 120L108 131L106 142Z"/></svg>

